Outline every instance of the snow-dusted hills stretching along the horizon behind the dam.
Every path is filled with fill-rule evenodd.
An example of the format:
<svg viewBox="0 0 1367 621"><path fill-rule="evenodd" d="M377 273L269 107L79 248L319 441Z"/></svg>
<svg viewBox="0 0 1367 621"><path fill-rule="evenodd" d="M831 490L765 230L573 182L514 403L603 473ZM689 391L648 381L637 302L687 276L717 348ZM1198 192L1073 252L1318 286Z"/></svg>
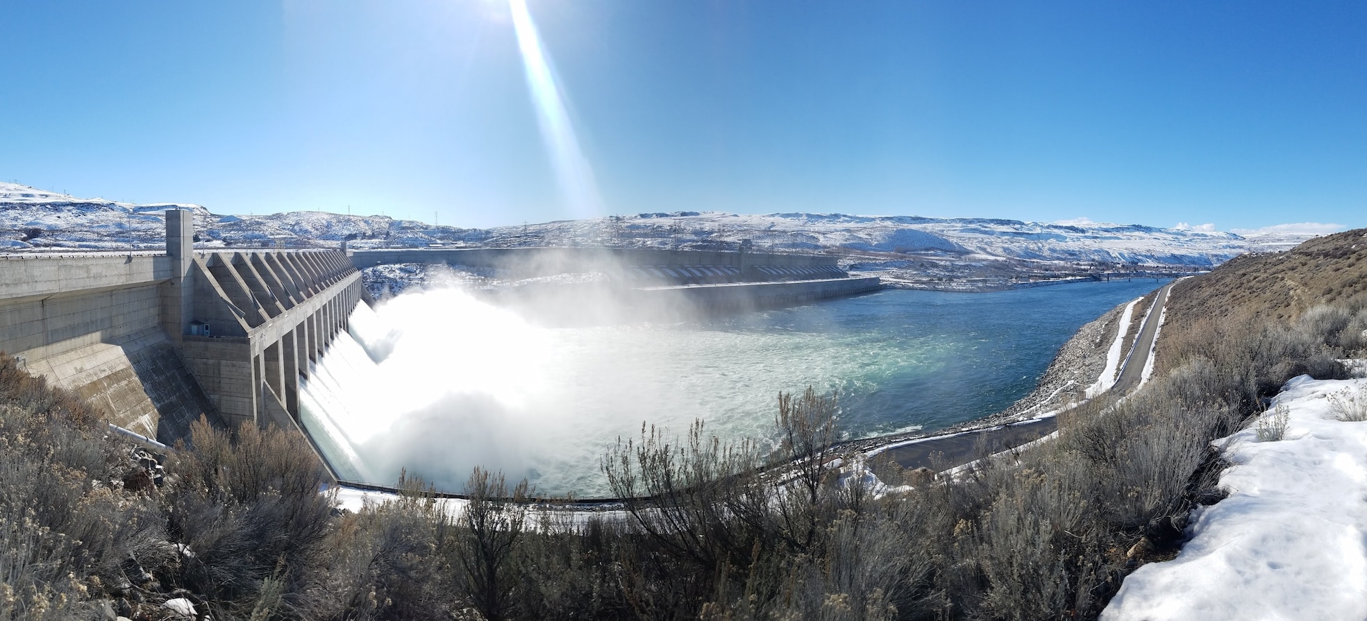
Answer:
<svg viewBox="0 0 1367 621"><path fill-rule="evenodd" d="M1249 251L1285 250L1312 236L1292 228L1240 236L1139 224L811 213L641 213L493 229L437 227L385 216L290 212L220 216L200 205L133 205L0 183L0 250L159 248L163 212L194 212L200 247L614 246L828 252L856 274L893 285L982 289L1066 281L1094 273L1210 269Z"/></svg>

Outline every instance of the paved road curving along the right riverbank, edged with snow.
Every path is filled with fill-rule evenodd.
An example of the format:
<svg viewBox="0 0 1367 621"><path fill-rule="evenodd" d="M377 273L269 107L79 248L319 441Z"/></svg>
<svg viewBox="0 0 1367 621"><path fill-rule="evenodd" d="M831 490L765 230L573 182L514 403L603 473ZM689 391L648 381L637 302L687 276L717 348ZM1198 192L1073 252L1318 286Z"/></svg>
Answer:
<svg viewBox="0 0 1367 621"><path fill-rule="evenodd" d="M1113 392L1128 392L1139 385L1143 377L1144 364L1148 362L1148 352L1152 349L1154 337L1158 334L1158 318L1162 317L1163 304L1167 303L1167 292L1173 288L1169 283L1158 289L1154 298L1154 311L1148 314L1144 326L1140 328L1139 341L1125 367L1111 386ZM999 453L1002 450L1020 446L1025 442L1042 438L1058 429L1058 416L1040 420L1027 420L1024 423L1005 427L965 431L957 435L928 438L916 444L884 450L879 459L891 459L902 468L913 470L927 467L932 470L946 470L973 461L983 454ZM984 453L986 449L986 453Z"/></svg>

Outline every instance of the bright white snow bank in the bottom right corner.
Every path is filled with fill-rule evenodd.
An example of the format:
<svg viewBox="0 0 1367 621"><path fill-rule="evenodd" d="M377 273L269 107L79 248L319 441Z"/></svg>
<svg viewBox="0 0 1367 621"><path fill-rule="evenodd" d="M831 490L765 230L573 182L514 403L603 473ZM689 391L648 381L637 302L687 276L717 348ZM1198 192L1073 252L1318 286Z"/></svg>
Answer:
<svg viewBox="0 0 1367 621"><path fill-rule="evenodd" d="M1340 422L1329 396L1363 379L1286 384L1284 439L1230 437L1230 495L1192 513L1177 558L1125 579L1105 621L1367 618L1367 422Z"/></svg>

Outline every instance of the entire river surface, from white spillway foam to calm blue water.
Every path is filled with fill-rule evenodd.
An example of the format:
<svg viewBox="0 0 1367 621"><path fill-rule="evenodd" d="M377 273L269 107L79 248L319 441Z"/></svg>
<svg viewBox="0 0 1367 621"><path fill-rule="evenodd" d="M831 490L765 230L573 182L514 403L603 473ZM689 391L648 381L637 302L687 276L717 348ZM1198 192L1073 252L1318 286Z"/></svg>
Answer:
<svg viewBox="0 0 1367 621"><path fill-rule="evenodd" d="M772 441L779 390L834 392L848 438L935 430L1028 394L1083 323L1154 280L950 293L886 289L674 323L545 328L455 288L358 304L299 392L336 475L401 470L461 491L470 468L608 495L599 470L645 426Z"/></svg>

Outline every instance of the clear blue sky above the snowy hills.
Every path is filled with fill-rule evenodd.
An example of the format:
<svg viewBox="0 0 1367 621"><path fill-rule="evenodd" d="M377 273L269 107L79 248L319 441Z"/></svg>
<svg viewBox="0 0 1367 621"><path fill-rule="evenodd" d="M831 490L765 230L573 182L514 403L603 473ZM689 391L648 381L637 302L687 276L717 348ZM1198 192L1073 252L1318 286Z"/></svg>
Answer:
<svg viewBox="0 0 1367 621"><path fill-rule="evenodd" d="M0 0L0 179L463 227L585 209L1367 227L1367 3L528 11L588 207L507 0Z"/></svg>

